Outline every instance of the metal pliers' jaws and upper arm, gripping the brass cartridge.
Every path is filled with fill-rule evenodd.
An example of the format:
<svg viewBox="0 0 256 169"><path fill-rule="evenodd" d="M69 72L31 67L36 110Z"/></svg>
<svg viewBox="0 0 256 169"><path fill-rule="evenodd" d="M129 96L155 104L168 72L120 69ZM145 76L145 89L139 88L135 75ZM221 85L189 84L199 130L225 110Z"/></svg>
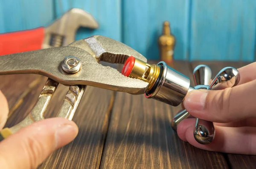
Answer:
<svg viewBox="0 0 256 169"><path fill-rule="evenodd" d="M125 44L95 35L65 47L4 55L0 57L0 74L41 74L64 85L88 85L133 95L143 94L147 82L125 77L117 69L99 63L123 64L131 55L146 62L143 55ZM67 56L79 58L79 72L70 74L61 68Z"/></svg>

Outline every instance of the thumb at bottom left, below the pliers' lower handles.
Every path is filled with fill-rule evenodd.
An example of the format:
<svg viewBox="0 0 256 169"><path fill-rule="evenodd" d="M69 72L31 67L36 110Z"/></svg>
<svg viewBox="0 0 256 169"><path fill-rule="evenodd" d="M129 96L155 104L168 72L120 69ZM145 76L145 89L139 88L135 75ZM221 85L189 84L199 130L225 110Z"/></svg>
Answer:
<svg viewBox="0 0 256 169"><path fill-rule="evenodd" d="M1 169L36 168L78 133L73 121L56 117L33 123L0 142Z"/></svg>

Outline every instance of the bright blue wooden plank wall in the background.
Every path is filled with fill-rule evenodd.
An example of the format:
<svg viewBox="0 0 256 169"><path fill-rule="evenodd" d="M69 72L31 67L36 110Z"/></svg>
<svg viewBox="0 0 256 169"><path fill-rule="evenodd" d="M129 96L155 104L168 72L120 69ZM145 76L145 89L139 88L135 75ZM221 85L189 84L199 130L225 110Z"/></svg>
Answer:
<svg viewBox="0 0 256 169"><path fill-rule="evenodd" d="M170 21L176 60L255 60L256 0L0 0L0 33L47 26L70 8L90 12L101 34L159 59L157 38Z"/></svg>

